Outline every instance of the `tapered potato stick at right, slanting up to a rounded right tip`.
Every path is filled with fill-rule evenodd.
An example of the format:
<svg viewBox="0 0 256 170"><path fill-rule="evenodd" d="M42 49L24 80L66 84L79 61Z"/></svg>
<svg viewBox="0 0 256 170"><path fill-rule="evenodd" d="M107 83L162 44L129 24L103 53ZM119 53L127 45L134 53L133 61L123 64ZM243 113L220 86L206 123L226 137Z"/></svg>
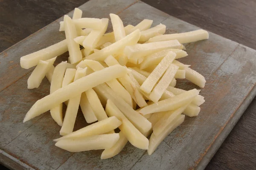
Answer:
<svg viewBox="0 0 256 170"><path fill-rule="evenodd" d="M142 115L155 113L160 111L171 111L176 108L179 108L183 105L186 105L188 102L192 101L199 94L198 90L193 89L190 91L186 91L183 94L179 94L177 96L171 97L169 99L161 100L152 105L148 105L145 108L140 110Z"/></svg>

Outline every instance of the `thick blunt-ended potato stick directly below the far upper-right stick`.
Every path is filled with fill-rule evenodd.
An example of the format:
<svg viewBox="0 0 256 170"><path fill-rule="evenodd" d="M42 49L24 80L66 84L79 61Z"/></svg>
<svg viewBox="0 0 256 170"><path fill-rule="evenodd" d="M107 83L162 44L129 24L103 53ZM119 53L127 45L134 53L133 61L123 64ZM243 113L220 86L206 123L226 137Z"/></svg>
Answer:
<svg viewBox="0 0 256 170"><path fill-rule="evenodd" d="M177 40L151 42L147 44L127 45L124 54L129 58L140 58L168 48L178 48L180 42ZM175 55L176 56L176 55Z"/></svg>

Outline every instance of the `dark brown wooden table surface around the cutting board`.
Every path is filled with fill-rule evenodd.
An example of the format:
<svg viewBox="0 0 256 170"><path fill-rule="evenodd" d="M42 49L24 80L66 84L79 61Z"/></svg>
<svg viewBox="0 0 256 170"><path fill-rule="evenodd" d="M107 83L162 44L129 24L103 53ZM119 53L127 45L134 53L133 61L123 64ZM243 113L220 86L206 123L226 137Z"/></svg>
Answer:
<svg viewBox="0 0 256 170"><path fill-rule="evenodd" d="M256 49L254 0L143 1L195 26ZM87 0L0 0L0 52L85 2ZM255 169L255 131L256 99L206 169Z"/></svg>

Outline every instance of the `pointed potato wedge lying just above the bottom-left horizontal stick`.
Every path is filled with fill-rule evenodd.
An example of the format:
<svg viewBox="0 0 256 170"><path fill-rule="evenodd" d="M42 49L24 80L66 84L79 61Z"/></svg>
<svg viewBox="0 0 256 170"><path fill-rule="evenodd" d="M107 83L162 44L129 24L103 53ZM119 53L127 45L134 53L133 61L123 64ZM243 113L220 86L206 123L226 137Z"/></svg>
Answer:
<svg viewBox="0 0 256 170"><path fill-rule="evenodd" d="M79 139L79 138L85 138L88 136L101 135L116 129L121 124L122 124L121 121L119 121L115 116L112 116L102 121L83 127L79 130L76 130L66 136L62 136L58 139L54 139L54 141L58 142L62 139Z"/></svg>

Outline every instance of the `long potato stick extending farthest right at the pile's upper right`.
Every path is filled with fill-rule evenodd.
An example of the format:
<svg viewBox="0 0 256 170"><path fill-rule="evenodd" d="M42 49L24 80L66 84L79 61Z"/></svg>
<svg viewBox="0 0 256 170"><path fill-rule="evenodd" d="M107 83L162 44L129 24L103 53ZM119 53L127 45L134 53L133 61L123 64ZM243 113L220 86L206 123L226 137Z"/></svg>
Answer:
<svg viewBox="0 0 256 170"><path fill-rule="evenodd" d="M209 38L207 31L199 29L196 31L184 32L179 34L165 34L152 37L148 42L158 42L158 41L169 41L178 40L180 43L189 43L200 40L206 40Z"/></svg>

